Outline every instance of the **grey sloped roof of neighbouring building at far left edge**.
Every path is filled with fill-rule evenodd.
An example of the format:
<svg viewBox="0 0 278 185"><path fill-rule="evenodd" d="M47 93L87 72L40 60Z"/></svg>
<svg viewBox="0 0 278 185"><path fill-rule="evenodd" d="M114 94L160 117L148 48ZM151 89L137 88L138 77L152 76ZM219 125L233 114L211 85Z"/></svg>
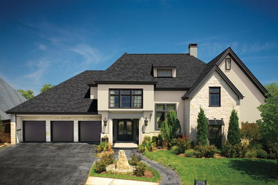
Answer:
<svg viewBox="0 0 278 185"><path fill-rule="evenodd" d="M16 105L25 102L26 98L23 97L19 92L11 88L11 85L6 83L0 78L0 116L1 120L10 120L11 115L6 114L6 110L15 107Z"/></svg>

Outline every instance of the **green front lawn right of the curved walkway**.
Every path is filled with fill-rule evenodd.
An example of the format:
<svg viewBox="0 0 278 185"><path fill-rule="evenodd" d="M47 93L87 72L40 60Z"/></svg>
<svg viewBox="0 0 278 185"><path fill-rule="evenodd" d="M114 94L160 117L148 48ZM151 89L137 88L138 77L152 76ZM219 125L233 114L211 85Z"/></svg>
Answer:
<svg viewBox="0 0 278 185"><path fill-rule="evenodd" d="M182 184L194 184L194 179L207 179L207 184L278 184L278 166L272 159L200 159L167 150L145 152L145 156L165 166L170 164Z"/></svg>

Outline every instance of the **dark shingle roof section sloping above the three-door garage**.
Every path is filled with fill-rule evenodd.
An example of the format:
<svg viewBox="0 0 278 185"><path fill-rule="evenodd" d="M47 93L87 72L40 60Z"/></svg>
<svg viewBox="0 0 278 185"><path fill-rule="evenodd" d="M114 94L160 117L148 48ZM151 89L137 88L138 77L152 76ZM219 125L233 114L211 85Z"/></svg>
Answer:
<svg viewBox="0 0 278 185"><path fill-rule="evenodd" d="M9 113L21 114L98 114L97 101L90 99L88 83L103 71L86 70L73 78L18 105Z"/></svg>

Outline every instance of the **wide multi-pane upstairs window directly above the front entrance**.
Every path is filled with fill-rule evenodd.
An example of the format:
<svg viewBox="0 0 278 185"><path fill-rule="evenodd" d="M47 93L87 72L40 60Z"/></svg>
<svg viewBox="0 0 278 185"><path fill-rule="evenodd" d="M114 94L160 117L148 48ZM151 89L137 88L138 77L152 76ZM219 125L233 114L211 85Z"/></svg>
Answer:
<svg viewBox="0 0 278 185"><path fill-rule="evenodd" d="M110 90L109 107L142 108L143 90L115 89Z"/></svg>

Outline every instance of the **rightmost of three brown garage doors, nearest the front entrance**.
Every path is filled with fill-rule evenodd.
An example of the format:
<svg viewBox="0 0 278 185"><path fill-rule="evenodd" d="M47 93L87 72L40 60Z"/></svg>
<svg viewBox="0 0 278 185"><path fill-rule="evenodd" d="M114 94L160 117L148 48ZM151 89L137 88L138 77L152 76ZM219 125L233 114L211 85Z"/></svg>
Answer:
<svg viewBox="0 0 278 185"><path fill-rule="evenodd" d="M79 141L80 142L100 142L101 122L96 122L96 121L79 122Z"/></svg>

